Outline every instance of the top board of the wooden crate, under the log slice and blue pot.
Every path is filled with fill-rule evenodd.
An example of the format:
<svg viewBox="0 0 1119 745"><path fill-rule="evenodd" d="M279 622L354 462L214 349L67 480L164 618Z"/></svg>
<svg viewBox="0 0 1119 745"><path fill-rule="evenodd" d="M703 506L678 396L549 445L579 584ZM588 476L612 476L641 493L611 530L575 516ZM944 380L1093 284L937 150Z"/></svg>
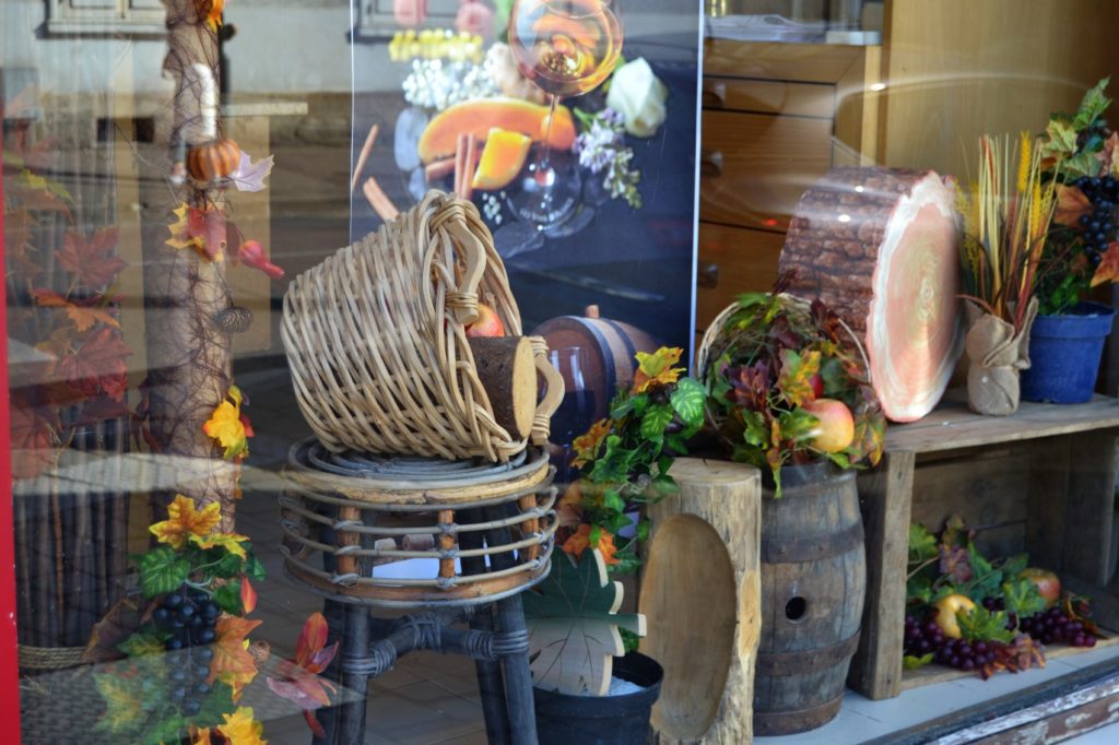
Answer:
<svg viewBox="0 0 1119 745"><path fill-rule="evenodd" d="M891 425L886 450L931 453L1108 427L1119 427L1119 399L1110 396L1087 404L1022 402L1016 414L1000 417L972 414L965 392L955 389L923 419Z"/></svg>

